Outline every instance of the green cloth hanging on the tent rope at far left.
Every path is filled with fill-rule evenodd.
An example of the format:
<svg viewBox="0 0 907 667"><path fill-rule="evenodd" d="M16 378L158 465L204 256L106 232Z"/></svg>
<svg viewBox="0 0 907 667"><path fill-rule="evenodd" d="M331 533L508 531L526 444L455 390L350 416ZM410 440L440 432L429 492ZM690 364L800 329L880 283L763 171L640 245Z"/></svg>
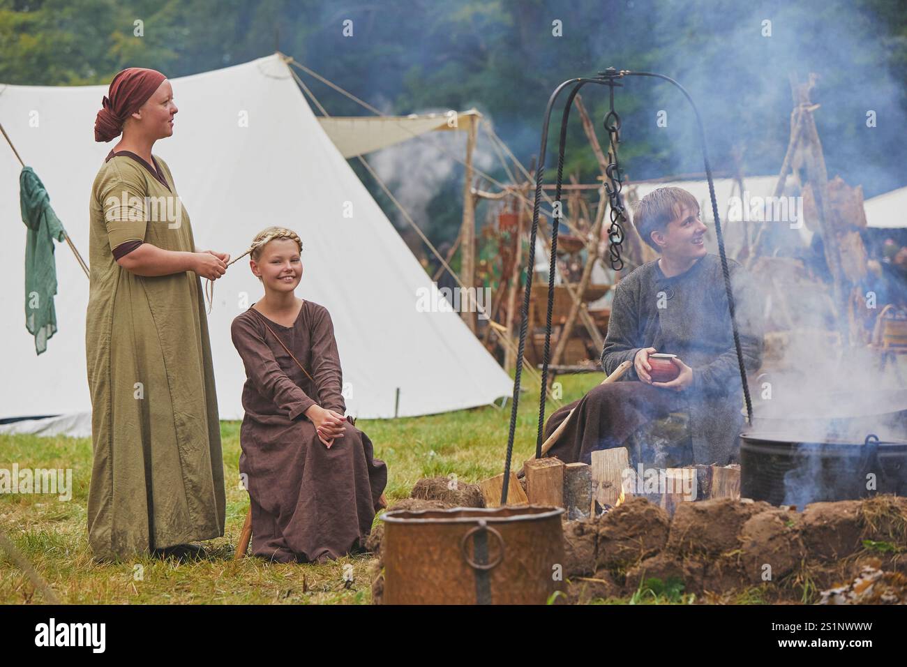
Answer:
<svg viewBox="0 0 907 667"><path fill-rule="evenodd" d="M54 294L56 261L54 240L61 241L66 231L51 208L44 183L31 167L19 174L19 203L25 236L25 329L34 335L34 350L47 349L47 339L57 330Z"/></svg>

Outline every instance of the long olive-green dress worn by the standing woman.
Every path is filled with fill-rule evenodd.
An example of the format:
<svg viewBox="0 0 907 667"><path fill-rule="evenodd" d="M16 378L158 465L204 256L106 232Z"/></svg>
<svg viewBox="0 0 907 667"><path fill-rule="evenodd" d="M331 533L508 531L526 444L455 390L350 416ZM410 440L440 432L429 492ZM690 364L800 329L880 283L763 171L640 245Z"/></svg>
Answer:
<svg viewBox="0 0 907 667"><path fill-rule="evenodd" d="M113 256L122 243L140 240L195 251L170 168L156 155L152 160L161 165L157 175L138 156L111 152L94 179L90 206L88 539L102 559L224 534L219 417L200 279L192 271L138 276Z"/></svg>

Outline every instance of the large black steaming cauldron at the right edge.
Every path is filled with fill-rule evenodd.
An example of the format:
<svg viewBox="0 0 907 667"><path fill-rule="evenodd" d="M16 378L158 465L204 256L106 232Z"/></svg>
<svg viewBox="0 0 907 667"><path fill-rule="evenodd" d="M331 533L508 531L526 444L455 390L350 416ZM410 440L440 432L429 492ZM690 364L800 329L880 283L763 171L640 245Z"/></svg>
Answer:
<svg viewBox="0 0 907 667"><path fill-rule="evenodd" d="M907 442L740 436L740 495L802 509L820 501L907 495Z"/></svg>

